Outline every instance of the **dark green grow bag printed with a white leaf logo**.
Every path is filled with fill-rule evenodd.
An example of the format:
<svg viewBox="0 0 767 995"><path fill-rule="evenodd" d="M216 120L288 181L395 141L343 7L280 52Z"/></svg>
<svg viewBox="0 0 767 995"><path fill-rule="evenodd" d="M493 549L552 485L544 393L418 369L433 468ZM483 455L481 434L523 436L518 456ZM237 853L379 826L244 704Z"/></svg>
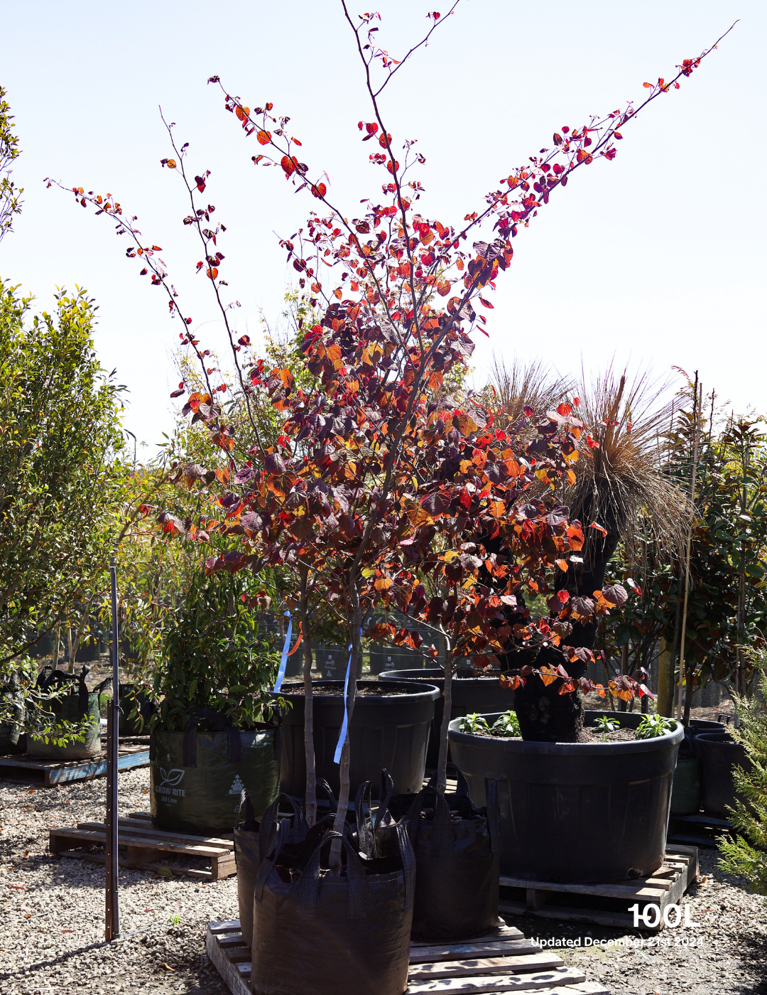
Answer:
<svg viewBox="0 0 767 995"><path fill-rule="evenodd" d="M152 825L169 832L231 833L246 788L260 819L280 793L280 729L186 732L149 739Z"/></svg>

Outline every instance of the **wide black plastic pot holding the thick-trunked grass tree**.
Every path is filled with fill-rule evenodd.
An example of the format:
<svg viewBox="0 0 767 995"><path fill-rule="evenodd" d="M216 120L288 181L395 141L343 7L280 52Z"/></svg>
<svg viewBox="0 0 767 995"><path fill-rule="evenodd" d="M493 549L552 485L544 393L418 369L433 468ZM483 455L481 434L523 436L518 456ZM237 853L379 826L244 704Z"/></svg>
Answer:
<svg viewBox="0 0 767 995"><path fill-rule="evenodd" d="M636 727L639 713L587 711ZM485 715L489 724L497 713ZM500 872L530 881L598 884L640 878L664 859L680 722L653 739L545 743L478 736L450 724L472 797L498 778Z"/></svg>

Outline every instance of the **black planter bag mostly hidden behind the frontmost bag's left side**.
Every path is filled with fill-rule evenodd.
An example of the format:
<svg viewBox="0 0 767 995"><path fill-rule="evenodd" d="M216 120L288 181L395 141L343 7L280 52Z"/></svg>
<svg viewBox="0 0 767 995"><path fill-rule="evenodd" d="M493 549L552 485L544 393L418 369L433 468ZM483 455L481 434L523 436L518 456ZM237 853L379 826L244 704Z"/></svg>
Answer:
<svg viewBox="0 0 767 995"><path fill-rule="evenodd" d="M245 788L240 795L237 822L235 823L237 900L240 905L240 930L249 946L253 939L253 896L256 891L256 876L261 867L262 854L266 857L270 845L274 843L272 831L277 829L281 802L286 805L287 811L292 809L292 816L288 816L290 823L288 842L298 843L305 838L308 826L300 806L292 798L285 794L278 795L259 822L251 796ZM243 803L245 804L245 822L241 822Z"/></svg>

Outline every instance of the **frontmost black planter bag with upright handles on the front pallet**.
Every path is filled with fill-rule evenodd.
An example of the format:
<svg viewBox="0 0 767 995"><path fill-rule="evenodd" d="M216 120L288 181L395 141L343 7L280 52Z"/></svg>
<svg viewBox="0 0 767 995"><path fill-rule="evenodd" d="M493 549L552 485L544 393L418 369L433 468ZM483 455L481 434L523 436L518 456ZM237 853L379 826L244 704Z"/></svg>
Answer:
<svg viewBox="0 0 767 995"><path fill-rule="evenodd" d="M340 876L321 860L336 833L307 852L284 846L286 828L280 825L256 884L254 995L402 995L415 863L404 825L390 858L359 857L344 837Z"/></svg>

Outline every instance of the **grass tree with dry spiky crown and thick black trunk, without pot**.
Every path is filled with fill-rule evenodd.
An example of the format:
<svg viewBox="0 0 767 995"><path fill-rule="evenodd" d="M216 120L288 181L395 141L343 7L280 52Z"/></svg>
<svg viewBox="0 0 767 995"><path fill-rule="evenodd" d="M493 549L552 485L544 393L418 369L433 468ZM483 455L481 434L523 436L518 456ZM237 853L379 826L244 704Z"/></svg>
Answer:
<svg viewBox="0 0 767 995"><path fill-rule="evenodd" d="M671 419L671 402L664 403L663 393L647 373L629 381L625 372L618 375L610 367L591 385L584 377L578 416L588 434L574 454L562 503L571 519L583 523L585 541L580 556L570 558L557 584L574 604L580 600L588 608L596 592L602 591L607 564L622 539L631 551L638 535L650 527L656 543L671 556L683 546L683 523L689 519L685 496L664 476L660 459L659 438ZM556 417L557 412L550 414ZM620 585L610 590L615 605L626 600ZM582 621L571 616L571 622L568 645L592 651L596 616ZM512 661L509 654L507 662ZM556 667L559 662L555 651L546 648L536 659L538 666ZM566 665L570 679L582 679L588 663L589 654L571 653ZM620 687L622 681L623 676L616 679L616 693L631 697L628 689ZM515 707L524 738L572 742L581 737L583 703L577 695L561 695L564 684L559 679L544 686L539 677L531 676L518 689Z"/></svg>

